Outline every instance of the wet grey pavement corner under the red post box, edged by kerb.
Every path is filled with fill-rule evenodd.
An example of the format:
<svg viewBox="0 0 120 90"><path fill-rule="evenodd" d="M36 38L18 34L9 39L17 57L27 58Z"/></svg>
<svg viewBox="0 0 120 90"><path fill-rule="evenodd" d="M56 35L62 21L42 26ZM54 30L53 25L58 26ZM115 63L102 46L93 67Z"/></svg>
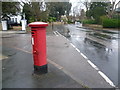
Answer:
<svg viewBox="0 0 120 90"><path fill-rule="evenodd" d="M3 88L82 88L82 86L64 72L48 63L48 73L33 74L32 54L3 46Z"/></svg>

